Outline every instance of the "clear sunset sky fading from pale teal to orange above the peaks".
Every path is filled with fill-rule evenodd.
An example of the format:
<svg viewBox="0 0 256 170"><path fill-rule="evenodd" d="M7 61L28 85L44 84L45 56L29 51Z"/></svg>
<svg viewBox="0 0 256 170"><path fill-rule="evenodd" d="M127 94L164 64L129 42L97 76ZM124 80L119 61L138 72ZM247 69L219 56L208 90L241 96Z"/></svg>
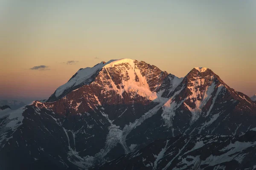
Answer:
<svg viewBox="0 0 256 170"><path fill-rule="evenodd" d="M208 67L252 96L256 1L0 0L0 99L48 98L78 69L120 58L178 77Z"/></svg>

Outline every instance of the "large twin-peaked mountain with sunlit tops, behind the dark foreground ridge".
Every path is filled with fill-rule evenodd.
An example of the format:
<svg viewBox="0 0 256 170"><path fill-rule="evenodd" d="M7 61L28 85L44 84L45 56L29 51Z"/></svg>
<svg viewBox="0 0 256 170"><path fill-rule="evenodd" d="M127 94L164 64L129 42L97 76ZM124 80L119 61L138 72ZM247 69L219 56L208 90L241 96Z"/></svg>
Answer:
<svg viewBox="0 0 256 170"><path fill-rule="evenodd" d="M256 104L210 69L177 78L143 61L102 62L80 69L46 102L0 117L0 164L86 169L158 138L243 135L255 122Z"/></svg>

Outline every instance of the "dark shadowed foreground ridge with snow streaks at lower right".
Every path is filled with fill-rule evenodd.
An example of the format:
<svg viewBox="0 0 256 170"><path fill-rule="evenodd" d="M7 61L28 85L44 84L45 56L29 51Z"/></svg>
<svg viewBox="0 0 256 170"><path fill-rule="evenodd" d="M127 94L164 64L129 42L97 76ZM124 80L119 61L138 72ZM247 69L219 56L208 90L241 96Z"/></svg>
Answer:
<svg viewBox="0 0 256 170"><path fill-rule="evenodd" d="M255 147L254 130L240 136L177 135L90 169L253 170Z"/></svg>

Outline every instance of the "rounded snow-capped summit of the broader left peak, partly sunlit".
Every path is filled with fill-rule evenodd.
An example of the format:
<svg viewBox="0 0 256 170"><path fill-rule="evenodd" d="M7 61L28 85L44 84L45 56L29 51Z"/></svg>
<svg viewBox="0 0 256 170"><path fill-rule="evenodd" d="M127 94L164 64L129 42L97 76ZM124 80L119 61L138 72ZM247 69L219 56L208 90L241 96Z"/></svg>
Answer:
<svg viewBox="0 0 256 170"><path fill-rule="evenodd" d="M93 67L79 69L66 84L56 89L48 101L57 101L81 86L96 84L96 82L105 86L106 91L112 88L119 91L120 96L124 91L136 89L147 97L155 99L157 98L157 88L160 88L160 84L167 76L172 75L168 75L167 72L162 72L156 66L151 66L144 61L139 62L125 58L111 60L107 63L101 62ZM178 81L178 78L174 76L171 79ZM109 87L106 84L109 84Z"/></svg>

